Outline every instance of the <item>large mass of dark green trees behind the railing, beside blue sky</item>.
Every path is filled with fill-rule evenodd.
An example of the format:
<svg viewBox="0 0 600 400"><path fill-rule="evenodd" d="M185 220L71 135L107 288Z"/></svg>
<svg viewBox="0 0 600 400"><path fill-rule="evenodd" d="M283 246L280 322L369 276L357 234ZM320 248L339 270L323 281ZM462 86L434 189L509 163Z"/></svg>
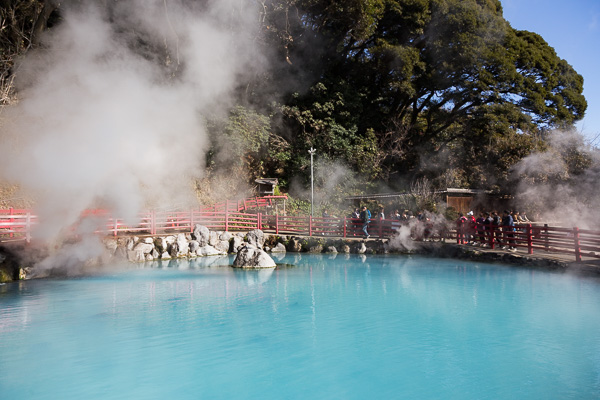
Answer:
<svg viewBox="0 0 600 400"><path fill-rule="evenodd" d="M295 19L279 26L297 40L282 48L313 78L284 99L294 153L314 145L370 180L501 189L511 166L543 145L540 132L585 112L582 77L539 35L512 29L499 1L291 8ZM308 47L318 64L303 59ZM275 80L295 73L291 66ZM285 173L297 174L302 158Z"/></svg>

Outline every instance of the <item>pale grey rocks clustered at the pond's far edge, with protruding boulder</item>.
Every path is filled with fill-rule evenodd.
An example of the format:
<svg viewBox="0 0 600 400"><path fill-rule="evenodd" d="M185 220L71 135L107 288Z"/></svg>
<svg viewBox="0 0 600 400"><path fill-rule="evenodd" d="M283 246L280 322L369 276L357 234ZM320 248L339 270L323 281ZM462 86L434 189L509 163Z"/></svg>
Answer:
<svg viewBox="0 0 600 400"><path fill-rule="evenodd" d="M193 232L159 237L107 238L104 245L111 257L131 262L168 260L236 254L234 267L275 268L269 253L387 253L387 241L356 242L340 239L298 238L265 235L259 229L249 232L210 231L196 225Z"/></svg>

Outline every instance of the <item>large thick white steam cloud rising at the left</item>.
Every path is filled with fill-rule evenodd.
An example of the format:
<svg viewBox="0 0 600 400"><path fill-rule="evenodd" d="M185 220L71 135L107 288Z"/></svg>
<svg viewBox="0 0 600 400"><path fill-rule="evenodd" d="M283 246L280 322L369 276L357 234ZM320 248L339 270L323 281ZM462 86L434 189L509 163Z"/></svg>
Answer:
<svg viewBox="0 0 600 400"><path fill-rule="evenodd" d="M60 25L15 70L20 102L2 113L0 178L34 197L38 238L90 207L131 220L148 204L190 201L203 116L263 64L248 7L63 2Z"/></svg>

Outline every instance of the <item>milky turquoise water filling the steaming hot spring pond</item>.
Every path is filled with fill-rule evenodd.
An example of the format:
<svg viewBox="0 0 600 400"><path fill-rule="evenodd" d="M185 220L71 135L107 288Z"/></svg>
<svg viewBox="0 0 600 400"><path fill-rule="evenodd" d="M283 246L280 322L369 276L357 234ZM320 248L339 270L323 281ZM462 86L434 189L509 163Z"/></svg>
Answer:
<svg viewBox="0 0 600 400"><path fill-rule="evenodd" d="M1 399L597 399L600 283L289 255L0 286Z"/></svg>

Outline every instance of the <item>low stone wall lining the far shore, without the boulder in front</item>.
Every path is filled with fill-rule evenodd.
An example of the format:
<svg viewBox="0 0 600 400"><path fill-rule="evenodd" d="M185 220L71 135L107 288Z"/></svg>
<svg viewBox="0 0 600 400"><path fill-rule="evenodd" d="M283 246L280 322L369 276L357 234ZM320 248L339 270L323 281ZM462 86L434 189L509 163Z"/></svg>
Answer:
<svg viewBox="0 0 600 400"><path fill-rule="evenodd" d="M508 265L542 267L546 269L567 269L573 263L528 256L515 253L481 251L472 247L439 242L413 242L411 250L395 247L394 240L352 240L320 237L297 237L265 235L260 230L250 232L209 231L197 225L192 233L155 237L105 238L104 254L84 264L109 264L127 260L147 262L174 258L207 257L237 254L241 249L252 247L267 253L308 252L308 253L353 253L353 254L423 254L443 258L456 258L481 262L498 262ZM36 274L33 263L26 257L19 259L14 251L0 248L0 282L8 282L28 277L53 275L52 271ZM31 257L29 257L31 259ZM55 271L57 275L63 275Z"/></svg>

